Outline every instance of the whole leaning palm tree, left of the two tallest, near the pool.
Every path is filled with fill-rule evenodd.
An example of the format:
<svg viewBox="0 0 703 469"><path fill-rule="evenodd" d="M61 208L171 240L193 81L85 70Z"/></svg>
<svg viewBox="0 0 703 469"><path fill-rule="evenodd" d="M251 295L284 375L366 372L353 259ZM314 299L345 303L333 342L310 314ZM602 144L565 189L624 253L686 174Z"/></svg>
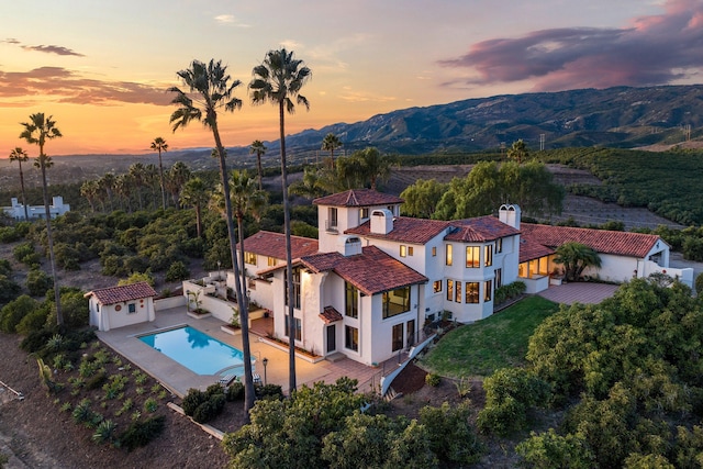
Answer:
<svg viewBox="0 0 703 469"><path fill-rule="evenodd" d="M234 234L234 219L232 216L232 201L230 200L230 181L227 178L227 165L225 161L225 150L220 138L220 127L217 126L217 111L233 112L242 108L242 100L234 98L234 89L242 85L239 80L232 80L227 75L227 67L220 60L211 59L209 64L193 60L190 68L177 72L187 91L181 91L178 87L169 88L176 93L171 104L178 107L170 116L169 122L174 125L174 132L179 127L187 126L191 121L199 121L207 129L212 131L215 147L220 156L220 178L222 191L225 199L225 215L227 219L227 234L230 237L230 255L232 256L232 268L234 271L234 290L239 309L239 324L242 324L242 354L244 358L244 410L248 416L248 411L254 406L254 375L252 373L252 350L249 347L249 314L246 309L246 301L242 294L242 282L239 281L239 266L236 256L236 244ZM244 266L242 266L244 268Z"/></svg>

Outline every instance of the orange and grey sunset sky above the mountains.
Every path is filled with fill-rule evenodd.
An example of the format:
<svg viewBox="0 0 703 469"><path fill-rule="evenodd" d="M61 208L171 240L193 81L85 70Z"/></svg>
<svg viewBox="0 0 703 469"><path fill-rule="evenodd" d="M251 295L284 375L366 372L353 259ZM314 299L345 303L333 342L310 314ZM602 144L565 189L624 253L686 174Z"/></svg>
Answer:
<svg viewBox="0 0 703 469"><path fill-rule="evenodd" d="M221 114L226 146L278 137L246 85L284 45L312 70L310 111L287 133L397 109L504 93L701 83L703 0L7 0L0 3L0 157L44 112L48 155L213 146L199 123L171 132L166 89L192 59L242 80Z"/></svg>

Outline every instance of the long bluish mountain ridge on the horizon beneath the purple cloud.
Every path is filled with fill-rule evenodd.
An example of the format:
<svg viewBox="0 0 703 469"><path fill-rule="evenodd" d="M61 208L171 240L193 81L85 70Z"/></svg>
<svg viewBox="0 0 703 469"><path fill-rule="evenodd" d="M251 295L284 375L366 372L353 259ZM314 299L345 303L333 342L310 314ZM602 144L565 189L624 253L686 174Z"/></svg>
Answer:
<svg viewBox="0 0 703 469"><path fill-rule="evenodd" d="M320 148L327 133L345 147L373 145L417 154L510 146L523 138L532 148L636 147L684 139L684 126L701 136L703 86L617 87L503 94L375 115L354 124L309 130L287 139L291 147Z"/></svg>

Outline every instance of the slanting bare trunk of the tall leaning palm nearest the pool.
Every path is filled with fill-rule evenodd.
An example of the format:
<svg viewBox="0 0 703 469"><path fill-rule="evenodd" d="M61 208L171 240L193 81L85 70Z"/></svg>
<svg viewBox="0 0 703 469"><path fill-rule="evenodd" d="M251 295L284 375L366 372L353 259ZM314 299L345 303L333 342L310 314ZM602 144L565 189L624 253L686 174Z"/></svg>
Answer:
<svg viewBox="0 0 703 469"><path fill-rule="evenodd" d="M216 121L213 119L212 133L215 138L215 146L220 155L220 176L222 179L222 192L224 196L225 214L227 219L227 234L230 236L230 255L232 256L232 270L234 271L234 291L239 309L239 323L242 326L242 355L244 359L244 412L247 422L249 421L249 411L254 407L256 394L254 391L254 373L252 372L252 349L249 346L249 313L247 311L246 300L242 294L242 280L239 278L239 265L236 256L236 243L234 234L234 220L232 216L232 200L230 199L230 179L227 175L227 165L224 159L224 146L220 139L220 131ZM242 266L244 267L244 266Z"/></svg>

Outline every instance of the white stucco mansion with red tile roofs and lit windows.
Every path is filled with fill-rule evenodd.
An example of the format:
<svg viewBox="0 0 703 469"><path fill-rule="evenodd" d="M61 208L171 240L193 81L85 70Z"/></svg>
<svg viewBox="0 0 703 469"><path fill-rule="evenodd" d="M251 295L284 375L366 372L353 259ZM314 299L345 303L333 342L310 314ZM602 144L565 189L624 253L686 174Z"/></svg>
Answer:
<svg viewBox="0 0 703 469"><path fill-rule="evenodd" d="M622 282L669 270L692 281L692 272L668 268L669 246L656 235L521 225L517 205L501 206L498 217L421 220L400 216L402 203L368 189L313 201L319 239L292 236L297 345L379 364L415 344L443 312L462 323L491 315L503 284L549 288L554 249L568 241L601 254L592 276ZM259 232L243 245L247 293L272 312L275 336L287 340L284 237Z"/></svg>

